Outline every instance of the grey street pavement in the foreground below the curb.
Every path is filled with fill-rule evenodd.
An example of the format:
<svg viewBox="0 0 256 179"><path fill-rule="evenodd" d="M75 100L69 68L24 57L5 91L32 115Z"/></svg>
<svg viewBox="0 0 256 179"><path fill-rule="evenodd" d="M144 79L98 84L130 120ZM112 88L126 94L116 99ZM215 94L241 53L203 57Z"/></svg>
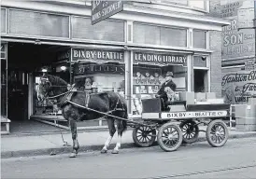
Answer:
<svg viewBox="0 0 256 179"><path fill-rule="evenodd" d="M256 178L256 138L207 142L164 152L159 146L30 158L2 158L2 178Z"/></svg>

